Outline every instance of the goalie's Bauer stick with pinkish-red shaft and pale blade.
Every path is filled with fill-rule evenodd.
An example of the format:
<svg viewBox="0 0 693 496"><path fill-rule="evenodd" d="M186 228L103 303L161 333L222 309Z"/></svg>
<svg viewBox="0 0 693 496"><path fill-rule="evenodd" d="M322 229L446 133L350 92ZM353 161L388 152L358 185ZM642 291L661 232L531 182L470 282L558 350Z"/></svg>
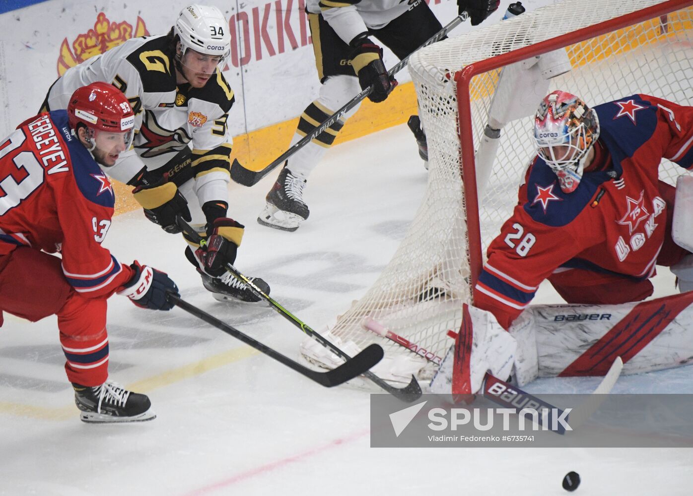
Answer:
<svg viewBox="0 0 693 496"><path fill-rule="evenodd" d="M392 330L389 330L372 317L365 317L361 321L361 325L371 332L376 333L379 336L386 337L390 341L407 348L407 350L411 351L412 353L416 353L416 355L426 358L426 360L429 362L440 365L440 360L436 360L439 359L439 357L433 355L432 353L419 353L419 350L422 349L421 346L410 342L410 340L406 339L405 337L393 333ZM456 337L455 333L450 330L448 330L448 336L452 337L453 339ZM616 381L621 375L622 369L623 360L621 360L621 357L616 357L616 360L614 360L613 364L611 364L611 368L608 370L606 375L604 375L602 382L599 382L597 389L592 392L593 397L585 400L577 409L574 410L575 413L573 414L571 419L572 421L570 423L572 427L579 427L580 425L584 424L588 418L590 418L590 416L597 411L599 404L601 404L602 400L604 399L601 397L601 395L611 392L611 389L613 389ZM514 408L513 403L516 404L516 399L522 396L529 398L529 400L536 402L537 405L546 407L548 409L556 408L544 400L541 400L541 398L537 398L536 396L523 391L519 387L514 386L509 382L505 382L505 380L500 380L490 373L486 373L484 382L482 382L481 391L483 391L482 394L485 398L489 398L489 400L505 407ZM562 413L561 409L556 408L556 411ZM565 434L565 431L559 432L559 434Z"/></svg>

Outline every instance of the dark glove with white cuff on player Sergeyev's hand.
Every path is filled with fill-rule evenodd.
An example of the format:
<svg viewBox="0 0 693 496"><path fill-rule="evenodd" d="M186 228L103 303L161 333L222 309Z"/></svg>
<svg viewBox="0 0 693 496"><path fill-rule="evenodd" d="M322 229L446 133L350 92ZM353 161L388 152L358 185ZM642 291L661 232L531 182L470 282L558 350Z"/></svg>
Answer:
<svg viewBox="0 0 693 496"><path fill-rule="evenodd" d="M128 296L132 303L141 308L150 310L173 308L173 303L168 301L166 294L169 292L176 296L180 294L177 285L170 280L166 272L152 269L148 265L140 265L137 260L130 267L134 270L134 274L118 294Z"/></svg>

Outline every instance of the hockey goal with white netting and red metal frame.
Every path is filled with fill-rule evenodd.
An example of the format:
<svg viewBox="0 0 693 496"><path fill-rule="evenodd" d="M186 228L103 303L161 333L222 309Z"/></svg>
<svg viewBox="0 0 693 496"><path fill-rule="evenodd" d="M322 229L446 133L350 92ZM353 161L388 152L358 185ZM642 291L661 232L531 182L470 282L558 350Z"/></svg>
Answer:
<svg viewBox="0 0 693 496"><path fill-rule="evenodd" d="M444 356L452 344L447 331L459 329L484 251L509 218L534 157L532 115L541 98L563 89L591 106L638 93L692 105L692 5L570 0L414 53L409 70L428 139L426 192L392 260L365 296L337 317L331 338L344 346L353 342L354 350L372 342L383 346L385 359L375 369L383 378L406 382L407 372L430 378L434 363L366 330L363 319L405 337L421 355ZM537 72L544 71L543 85L505 85L501 94L501 71L530 67L542 57L555 60L556 54L570 62L569 71L552 72L556 64L545 64ZM492 106L494 96L499 103ZM530 110L519 117L505 112L505 105L517 103ZM500 138L484 135L489 122L500 127ZM475 163L483 141L491 143L484 152L491 150L491 159ZM675 184L681 172L664 160L660 179ZM486 178L478 188L477 175ZM301 353L331 366L306 346Z"/></svg>

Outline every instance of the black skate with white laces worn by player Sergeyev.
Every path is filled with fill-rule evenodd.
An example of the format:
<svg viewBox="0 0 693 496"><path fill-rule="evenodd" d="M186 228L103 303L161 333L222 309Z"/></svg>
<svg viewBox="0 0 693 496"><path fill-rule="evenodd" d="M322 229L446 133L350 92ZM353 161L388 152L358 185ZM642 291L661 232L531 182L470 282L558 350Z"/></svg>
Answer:
<svg viewBox="0 0 693 496"><path fill-rule="evenodd" d="M80 420L87 423L143 422L156 418L149 398L133 393L115 382L100 386L82 386L72 383L75 404L82 411Z"/></svg>

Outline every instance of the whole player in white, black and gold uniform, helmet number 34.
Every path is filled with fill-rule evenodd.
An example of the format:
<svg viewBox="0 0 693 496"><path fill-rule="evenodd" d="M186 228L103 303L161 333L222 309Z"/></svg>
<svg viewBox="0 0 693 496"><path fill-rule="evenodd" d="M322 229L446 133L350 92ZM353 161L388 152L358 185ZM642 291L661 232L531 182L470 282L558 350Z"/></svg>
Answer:
<svg viewBox="0 0 693 496"><path fill-rule="evenodd" d="M147 218L165 231L180 232L175 219L181 215L207 238L201 247L186 238L193 246L186 257L216 299L258 301L223 269L224 262L234 263L243 237L243 225L227 218L227 117L234 92L220 69L230 54L228 30L218 8L187 6L167 35L128 39L68 69L49 89L42 111L67 108L73 91L91 82L123 91L136 114L137 134L134 148L121 154L109 175L135 186ZM215 236L223 257L207 256ZM265 281L252 279L269 292Z"/></svg>

